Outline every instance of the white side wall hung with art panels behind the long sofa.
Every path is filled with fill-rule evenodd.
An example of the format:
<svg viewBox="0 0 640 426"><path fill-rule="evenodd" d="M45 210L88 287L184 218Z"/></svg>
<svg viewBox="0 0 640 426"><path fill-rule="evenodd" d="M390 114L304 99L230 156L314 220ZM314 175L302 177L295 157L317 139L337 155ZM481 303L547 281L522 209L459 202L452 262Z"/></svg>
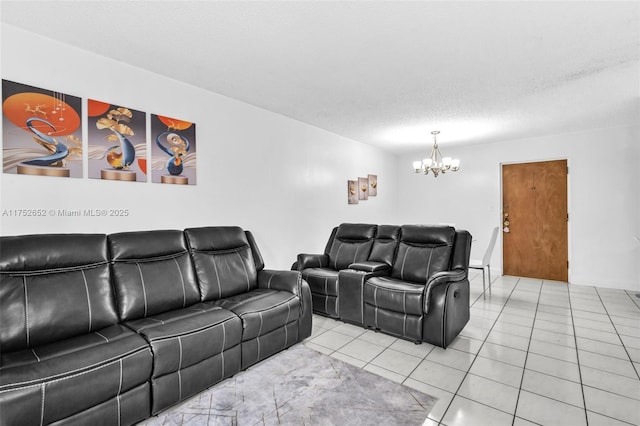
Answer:
<svg viewBox="0 0 640 426"><path fill-rule="evenodd" d="M341 222L395 222L394 155L5 24L1 47L3 79L82 97L85 108L93 98L195 122L198 155L198 184L189 187L2 174L3 210L130 211L126 219L1 216L2 235L239 225L254 233L268 268L288 269L297 253L322 252ZM347 180L368 173L378 175L379 195L347 205Z"/></svg>

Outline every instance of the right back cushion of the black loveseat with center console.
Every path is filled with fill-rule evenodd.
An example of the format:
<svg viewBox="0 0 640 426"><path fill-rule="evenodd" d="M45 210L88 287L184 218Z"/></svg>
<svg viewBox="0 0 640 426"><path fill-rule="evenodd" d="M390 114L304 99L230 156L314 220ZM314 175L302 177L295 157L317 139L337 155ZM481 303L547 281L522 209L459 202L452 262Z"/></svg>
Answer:
<svg viewBox="0 0 640 426"><path fill-rule="evenodd" d="M448 271L455 235L451 226L402 226L391 276L425 284L436 272Z"/></svg>

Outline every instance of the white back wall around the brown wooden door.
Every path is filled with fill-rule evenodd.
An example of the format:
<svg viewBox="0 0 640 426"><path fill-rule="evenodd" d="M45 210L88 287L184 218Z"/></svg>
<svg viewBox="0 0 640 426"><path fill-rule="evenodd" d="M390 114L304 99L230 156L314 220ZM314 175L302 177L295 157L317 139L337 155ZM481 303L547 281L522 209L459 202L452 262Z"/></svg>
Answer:
<svg viewBox="0 0 640 426"><path fill-rule="evenodd" d="M399 222L455 223L471 232L480 258L501 223L501 164L566 158L570 283L640 290L640 127L441 150L461 159L459 172L415 174L412 161L425 151L398 159ZM501 239L494 268L502 269Z"/></svg>

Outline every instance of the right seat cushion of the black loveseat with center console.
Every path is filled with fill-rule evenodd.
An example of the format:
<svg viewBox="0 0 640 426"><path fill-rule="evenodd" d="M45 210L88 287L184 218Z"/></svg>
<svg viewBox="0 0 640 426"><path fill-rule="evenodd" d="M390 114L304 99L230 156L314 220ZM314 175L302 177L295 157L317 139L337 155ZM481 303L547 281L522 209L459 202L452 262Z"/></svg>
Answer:
<svg viewBox="0 0 640 426"><path fill-rule="evenodd" d="M380 309L421 316L424 285L390 277L369 278L364 285L364 303Z"/></svg>

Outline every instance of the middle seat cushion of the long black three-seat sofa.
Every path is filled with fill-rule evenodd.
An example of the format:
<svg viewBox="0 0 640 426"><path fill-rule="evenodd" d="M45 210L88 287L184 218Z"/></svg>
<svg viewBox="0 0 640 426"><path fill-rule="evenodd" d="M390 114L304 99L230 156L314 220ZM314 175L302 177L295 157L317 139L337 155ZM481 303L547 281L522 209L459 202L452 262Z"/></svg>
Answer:
<svg viewBox="0 0 640 426"><path fill-rule="evenodd" d="M242 335L236 315L202 303L125 324L151 345L154 378L219 355L238 345Z"/></svg>

